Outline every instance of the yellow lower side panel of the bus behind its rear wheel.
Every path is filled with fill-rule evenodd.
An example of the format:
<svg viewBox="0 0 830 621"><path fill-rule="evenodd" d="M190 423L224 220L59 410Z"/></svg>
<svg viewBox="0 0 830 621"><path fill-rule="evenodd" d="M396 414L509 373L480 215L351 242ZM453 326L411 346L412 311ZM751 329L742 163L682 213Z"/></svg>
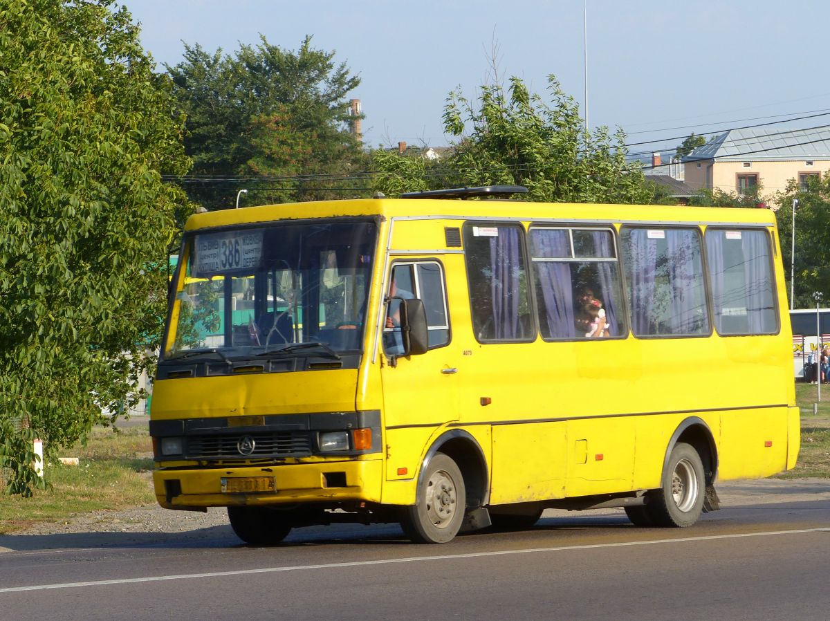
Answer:
<svg viewBox="0 0 830 621"><path fill-rule="evenodd" d="M787 467L788 408L736 410L721 415L719 478L769 477Z"/></svg>

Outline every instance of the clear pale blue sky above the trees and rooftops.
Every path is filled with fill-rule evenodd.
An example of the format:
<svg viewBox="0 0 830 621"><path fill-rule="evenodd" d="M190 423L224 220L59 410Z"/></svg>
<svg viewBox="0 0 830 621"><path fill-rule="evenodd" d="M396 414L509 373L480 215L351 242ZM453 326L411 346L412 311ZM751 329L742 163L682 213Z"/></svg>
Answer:
<svg viewBox="0 0 830 621"><path fill-rule="evenodd" d="M673 149L695 131L830 112L827 0L123 0L164 71L183 42L232 54L260 35L305 35L360 76L369 146L445 146L442 110L519 76L544 95L553 74L591 127L630 149ZM585 32L587 31L587 37ZM588 105L585 105L587 38ZM769 117L769 118L768 118ZM774 118L772 118L774 117ZM830 116L789 125L830 124Z"/></svg>

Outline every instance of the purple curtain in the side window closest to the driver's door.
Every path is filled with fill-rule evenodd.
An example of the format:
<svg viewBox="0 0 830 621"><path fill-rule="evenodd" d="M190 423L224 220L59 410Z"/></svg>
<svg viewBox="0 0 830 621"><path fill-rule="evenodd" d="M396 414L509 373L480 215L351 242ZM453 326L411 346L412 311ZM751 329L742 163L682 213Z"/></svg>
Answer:
<svg viewBox="0 0 830 621"><path fill-rule="evenodd" d="M499 234L490 238L491 295L496 339L516 339L519 325L519 229L499 227Z"/></svg>

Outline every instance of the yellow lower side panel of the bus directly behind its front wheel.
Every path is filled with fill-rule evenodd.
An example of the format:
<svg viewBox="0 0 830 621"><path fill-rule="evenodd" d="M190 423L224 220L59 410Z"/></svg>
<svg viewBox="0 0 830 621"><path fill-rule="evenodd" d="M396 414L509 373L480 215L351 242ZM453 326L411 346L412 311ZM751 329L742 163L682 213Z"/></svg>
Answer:
<svg viewBox="0 0 830 621"><path fill-rule="evenodd" d="M565 495L564 422L494 425L493 505Z"/></svg>

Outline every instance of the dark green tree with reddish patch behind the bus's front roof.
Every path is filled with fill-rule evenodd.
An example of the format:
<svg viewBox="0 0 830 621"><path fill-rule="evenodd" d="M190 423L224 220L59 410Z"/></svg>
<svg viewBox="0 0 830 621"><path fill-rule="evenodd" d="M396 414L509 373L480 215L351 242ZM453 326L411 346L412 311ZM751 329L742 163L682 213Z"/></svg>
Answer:
<svg viewBox="0 0 830 621"><path fill-rule="evenodd" d="M365 168L346 99L359 77L335 65L333 51L315 50L311 37L298 51L261 37L233 56L185 46L184 60L166 68L187 115L193 174L225 178L188 185L204 207L233 207L240 188L248 203L336 198L339 177Z"/></svg>

